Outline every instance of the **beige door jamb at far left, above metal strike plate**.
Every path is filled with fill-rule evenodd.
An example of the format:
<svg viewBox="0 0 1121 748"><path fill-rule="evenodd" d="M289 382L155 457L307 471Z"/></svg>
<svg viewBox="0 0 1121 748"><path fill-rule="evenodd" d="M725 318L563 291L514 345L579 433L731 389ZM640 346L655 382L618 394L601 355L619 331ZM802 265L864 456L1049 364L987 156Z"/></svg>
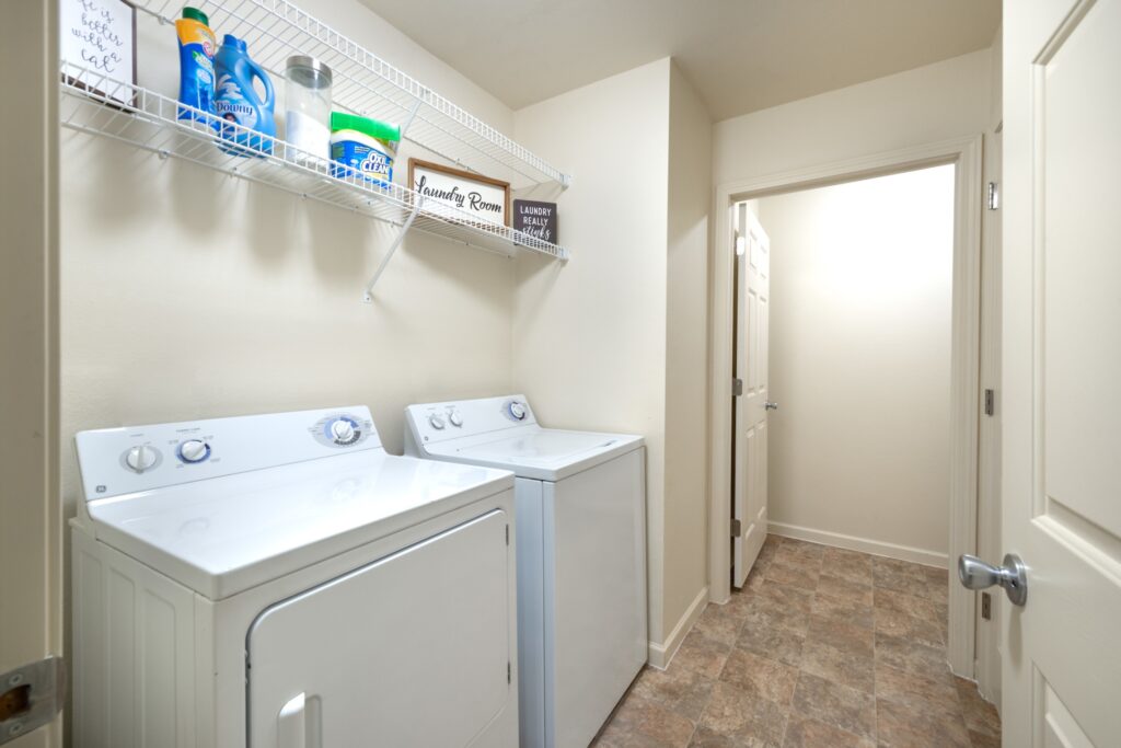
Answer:
<svg viewBox="0 0 1121 748"><path fill-rule="evenodd" d="M57 3L8 0L3 10L0 672L65 654L57 464ZM56 721L10 745L57 746L58 727Z"/></svg>

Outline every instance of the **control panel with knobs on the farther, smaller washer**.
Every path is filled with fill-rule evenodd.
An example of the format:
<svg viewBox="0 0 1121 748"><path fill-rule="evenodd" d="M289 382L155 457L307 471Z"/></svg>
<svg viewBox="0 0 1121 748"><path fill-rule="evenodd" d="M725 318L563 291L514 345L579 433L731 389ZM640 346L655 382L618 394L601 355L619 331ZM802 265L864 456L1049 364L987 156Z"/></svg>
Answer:
<svg viewBox="0 0 1121 748"><path fill-rule="evenodd" d="M525 395L410 405L405 408L405 421L406 427L420 444L434 444L537 423Z"/></svg>

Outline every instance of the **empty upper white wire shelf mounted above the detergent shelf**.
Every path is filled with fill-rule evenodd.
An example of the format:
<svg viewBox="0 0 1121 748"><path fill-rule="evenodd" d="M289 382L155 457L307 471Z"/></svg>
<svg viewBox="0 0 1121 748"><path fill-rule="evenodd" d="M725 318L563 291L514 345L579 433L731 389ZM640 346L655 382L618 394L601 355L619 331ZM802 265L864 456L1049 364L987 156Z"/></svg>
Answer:
<svg viewBox="0 0 1121 748"><path fill-rule="evenodd" d="M170 22L184 0L133 0L141 11ZM571 176L535 156L494 128L421 85L355 41L286 0L195 0L219 38L247 41L253 61L274 81L282 80L291 55L312 55L333 73L336 108L397 122L402 137L461 168L510 182L513 188L556 183Z"/></svg>

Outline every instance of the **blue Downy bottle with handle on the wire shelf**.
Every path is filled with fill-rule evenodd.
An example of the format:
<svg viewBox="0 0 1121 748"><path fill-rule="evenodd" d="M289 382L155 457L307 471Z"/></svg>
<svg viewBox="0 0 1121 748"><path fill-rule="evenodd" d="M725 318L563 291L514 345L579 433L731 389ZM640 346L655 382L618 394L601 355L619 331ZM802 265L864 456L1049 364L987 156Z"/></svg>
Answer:
<svg viewBox="0 0 1121 748"><path fill-rule="evenodd" d="M244 40L225 35L214 56L214 73L217 76L214 110L221 120L222 138L219 148L237 156L271 154L277 133L272 119L276 93L265 70L250 59ZM254 80L260 80L265 89L263 101L253 87Z"/></svg>

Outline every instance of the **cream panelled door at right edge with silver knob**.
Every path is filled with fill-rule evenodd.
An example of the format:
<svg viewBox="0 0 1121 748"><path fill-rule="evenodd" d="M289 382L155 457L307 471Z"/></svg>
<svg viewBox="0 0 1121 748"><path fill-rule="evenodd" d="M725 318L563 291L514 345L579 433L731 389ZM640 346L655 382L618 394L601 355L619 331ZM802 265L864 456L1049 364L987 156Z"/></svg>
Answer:
<svg viewBox="0 0 1121 748"><path fill-rule="evenodd" d="M1121 746L1121 0L1004 13L1004 745Z"/></svg>

